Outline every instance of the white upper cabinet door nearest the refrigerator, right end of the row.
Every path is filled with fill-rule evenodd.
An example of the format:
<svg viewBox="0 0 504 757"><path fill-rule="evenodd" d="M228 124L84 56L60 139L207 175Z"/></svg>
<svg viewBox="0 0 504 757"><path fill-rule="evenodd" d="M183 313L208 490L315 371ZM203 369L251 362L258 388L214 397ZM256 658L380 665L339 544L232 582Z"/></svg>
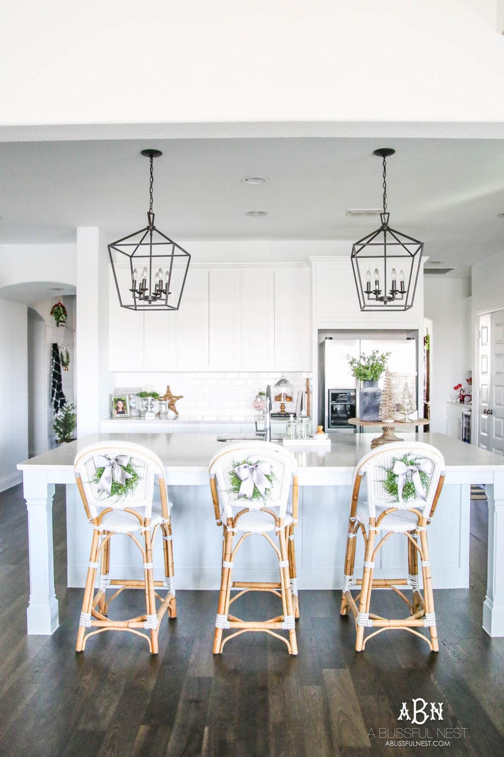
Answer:
<svg viewBox="0 0 504 757"><path fill-rule="evenodd" d="M309 270L277 268L274 272L275 369L308 370Z"/></svg>

